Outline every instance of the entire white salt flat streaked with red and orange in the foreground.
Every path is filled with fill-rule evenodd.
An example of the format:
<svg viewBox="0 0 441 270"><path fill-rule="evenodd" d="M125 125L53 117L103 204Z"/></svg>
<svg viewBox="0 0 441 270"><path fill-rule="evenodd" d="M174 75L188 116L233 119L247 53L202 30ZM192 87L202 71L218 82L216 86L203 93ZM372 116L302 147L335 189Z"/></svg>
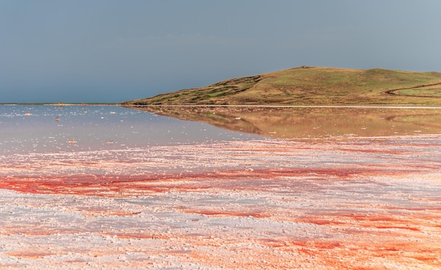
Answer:
<svg viewBox="0 0 441 270"><path fill-rule="evenodd" d="M0 269L441 269L441 137L0 157Z"/></svg>

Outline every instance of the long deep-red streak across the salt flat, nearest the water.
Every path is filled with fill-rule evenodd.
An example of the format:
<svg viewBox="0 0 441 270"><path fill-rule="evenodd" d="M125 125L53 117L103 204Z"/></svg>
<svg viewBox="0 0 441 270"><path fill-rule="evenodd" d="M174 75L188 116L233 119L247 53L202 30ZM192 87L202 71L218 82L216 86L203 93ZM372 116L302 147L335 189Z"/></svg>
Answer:
<svg viewBox="0 0 441 270"><path fill-rule="evenodd" d="M161 176L9 176L0 180L0 188L19 192L37 194L71 194L97 196L130 196L149 194L151 192L168 192L169 190L190 191L222 188L225 190L241 188L242 190L266 189L265 185L278 184L278 178L309 177L313 180L345 180L356 175L397 176L399 171L375 171L365 169L278 169L255 171L216 171L215 173L179 173ZM271 180L255 185L255 181ZM251 180L251 182L249 182ZM349 179L350 180L350 179ZM286 182L286 181L283 181ZM292 183L295 185L295 183ZM290 185L290 183L285 183Z"/></svg>

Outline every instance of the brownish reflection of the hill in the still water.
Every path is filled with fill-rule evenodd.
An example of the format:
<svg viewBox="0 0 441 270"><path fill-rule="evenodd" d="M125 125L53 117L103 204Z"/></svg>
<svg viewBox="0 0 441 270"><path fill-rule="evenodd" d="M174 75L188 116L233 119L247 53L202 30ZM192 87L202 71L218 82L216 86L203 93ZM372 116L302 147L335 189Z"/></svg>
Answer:
<svg viewBox="0 0 441 270"><path fill-rule="evenodd" d="M441 133L440 109L146 106L145 111L276 138Z"/></svg>

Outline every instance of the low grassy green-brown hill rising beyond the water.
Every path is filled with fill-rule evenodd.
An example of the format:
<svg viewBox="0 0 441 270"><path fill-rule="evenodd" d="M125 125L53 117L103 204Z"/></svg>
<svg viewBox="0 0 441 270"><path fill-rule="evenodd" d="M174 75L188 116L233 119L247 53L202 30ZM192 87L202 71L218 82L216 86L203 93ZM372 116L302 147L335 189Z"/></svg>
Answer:
<svg viewBox="0 0 441 270"><path fill-rule="evenodd" d="M123 104L440 105L441 73L298 67Z"/></svg>

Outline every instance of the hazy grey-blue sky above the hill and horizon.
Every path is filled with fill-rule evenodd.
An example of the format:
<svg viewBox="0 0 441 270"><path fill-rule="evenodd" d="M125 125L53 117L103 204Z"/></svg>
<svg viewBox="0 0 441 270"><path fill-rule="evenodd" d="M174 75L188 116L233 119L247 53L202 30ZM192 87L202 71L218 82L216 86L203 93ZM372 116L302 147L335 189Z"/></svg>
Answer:
<svg viewBox="0 0 441 270"><path fill-rule="evenodd" d="M0 0L0 103L123 102L296 66L441 72L440 0Z"/></svg>

